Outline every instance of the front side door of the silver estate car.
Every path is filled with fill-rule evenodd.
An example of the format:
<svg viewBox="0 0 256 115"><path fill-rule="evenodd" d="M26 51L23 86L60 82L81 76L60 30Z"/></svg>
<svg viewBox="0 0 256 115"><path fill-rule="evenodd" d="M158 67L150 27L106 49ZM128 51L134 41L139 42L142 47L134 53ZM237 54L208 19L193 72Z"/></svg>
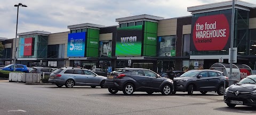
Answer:
<svg viewBox="0 0 256 115"><path fill-rule="evenodd" d="M87 85L99 85L100 84L100 79L95 73L89 70L83 70L84 71L84 76L86 77L85 83Z"/></svg>

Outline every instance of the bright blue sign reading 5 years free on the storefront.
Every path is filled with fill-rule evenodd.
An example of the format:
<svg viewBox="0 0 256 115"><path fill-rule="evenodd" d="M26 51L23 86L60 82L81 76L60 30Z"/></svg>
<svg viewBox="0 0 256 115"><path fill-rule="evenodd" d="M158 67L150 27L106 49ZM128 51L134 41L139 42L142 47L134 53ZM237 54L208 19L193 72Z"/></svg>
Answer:
<svg viewBox="0 0 256 115"><path fill-rule="evenodd" d="M86 32L68 34L68 57L84 57Z"/></svg>

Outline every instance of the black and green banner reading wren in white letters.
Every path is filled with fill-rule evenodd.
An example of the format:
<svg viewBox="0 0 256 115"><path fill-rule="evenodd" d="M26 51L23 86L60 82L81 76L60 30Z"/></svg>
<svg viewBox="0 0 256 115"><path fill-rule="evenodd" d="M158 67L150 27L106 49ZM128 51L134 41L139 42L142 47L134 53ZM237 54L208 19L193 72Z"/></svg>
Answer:
<svg viewBox="0 0 256 115"><path fill-rule="evenodd" d="M117 28L116 56L141 56L142 25Z"/></svg>

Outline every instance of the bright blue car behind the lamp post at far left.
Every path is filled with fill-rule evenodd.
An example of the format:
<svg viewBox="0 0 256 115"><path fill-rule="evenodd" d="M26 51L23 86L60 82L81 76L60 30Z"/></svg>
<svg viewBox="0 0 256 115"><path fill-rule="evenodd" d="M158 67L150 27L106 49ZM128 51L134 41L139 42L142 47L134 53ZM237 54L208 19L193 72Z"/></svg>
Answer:
<svg viewBox="0 0 256 115"><path fill-rule="evenodd" d="M13 64L7 65L6 67L2 68L2 70L5 71L13 71ZM15 66L15 71L21 71L21 72L29 72L29 69L27 67L27 65L23 65L23 64L16 64Z"/></svg>

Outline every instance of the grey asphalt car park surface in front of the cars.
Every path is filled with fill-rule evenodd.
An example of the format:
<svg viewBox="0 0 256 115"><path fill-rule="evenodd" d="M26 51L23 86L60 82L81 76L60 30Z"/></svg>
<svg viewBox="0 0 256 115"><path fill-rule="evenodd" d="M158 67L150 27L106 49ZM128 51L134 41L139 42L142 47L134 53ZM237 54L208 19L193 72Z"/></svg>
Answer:
<svg viewBox="0 0 256 115"><path fill-rule="evenodd" d="M0 114L256 114L256 108L228 108L223 96L210 92L163 96L135 92L110 94L106 88L24 85L0 81Z"/></svg>

